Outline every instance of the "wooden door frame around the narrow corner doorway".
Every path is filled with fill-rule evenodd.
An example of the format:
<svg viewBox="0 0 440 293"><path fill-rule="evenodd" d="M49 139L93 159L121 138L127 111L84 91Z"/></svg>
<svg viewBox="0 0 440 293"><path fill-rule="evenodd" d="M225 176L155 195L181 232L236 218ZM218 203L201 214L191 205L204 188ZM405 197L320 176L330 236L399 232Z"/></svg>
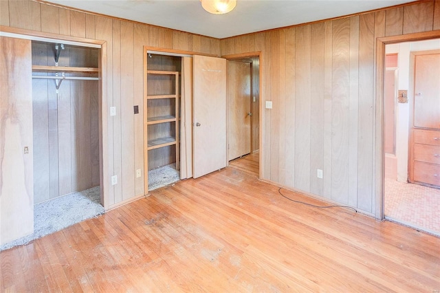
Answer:
<svg viewBox="0 0 440 293"><path fill-rule="evenodd" d="M259 58L259 178L263 177L263 170L264 170L264 160L263 160L263 154L264 154L264 131L263 127L261 125L264 125L264 116L263 116L263 86L261 83L261 80L263 80L263 54L261 54L261 51L256 52L247 52L247 53L240 53L240 54L229 54L229 55L223 55L221 58L225 58L227 61L234 61L236 59L243 59L243 58L252 58L252 57L258 57ZM252 81L251 81L252 83ZM252 133L252 129L251 129ZM252 134L251 134L252 135ZM252 148L252 146L251 146Z"/></svg>

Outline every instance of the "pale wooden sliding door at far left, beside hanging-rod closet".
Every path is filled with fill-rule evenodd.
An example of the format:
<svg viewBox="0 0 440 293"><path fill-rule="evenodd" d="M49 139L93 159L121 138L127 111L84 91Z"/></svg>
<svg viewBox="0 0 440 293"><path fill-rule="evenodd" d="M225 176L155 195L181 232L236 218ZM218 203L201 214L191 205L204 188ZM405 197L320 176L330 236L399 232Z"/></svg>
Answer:
<svg viewBox="0 0 440 293"><path fill-rule="evenodd" d="M34 232L32 47L0 36L0 245Z"/></svg>

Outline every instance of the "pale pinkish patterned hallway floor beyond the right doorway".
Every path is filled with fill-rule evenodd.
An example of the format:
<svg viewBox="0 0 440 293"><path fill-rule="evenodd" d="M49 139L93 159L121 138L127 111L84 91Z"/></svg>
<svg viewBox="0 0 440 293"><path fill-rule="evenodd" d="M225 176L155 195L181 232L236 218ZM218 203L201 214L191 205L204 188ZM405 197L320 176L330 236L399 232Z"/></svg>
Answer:
<svg viewBox="0 0 440 293"><path fill-rule="evenodd" d="M440 189L386 178L385 217L440 235Z"/></svg>

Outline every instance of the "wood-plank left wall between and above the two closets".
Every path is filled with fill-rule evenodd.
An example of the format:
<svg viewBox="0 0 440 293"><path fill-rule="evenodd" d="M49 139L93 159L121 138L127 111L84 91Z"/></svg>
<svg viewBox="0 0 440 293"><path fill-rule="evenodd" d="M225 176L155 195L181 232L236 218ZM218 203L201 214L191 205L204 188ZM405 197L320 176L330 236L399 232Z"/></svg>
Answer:
<svg viewBox="0 0 440 293"><path fill-rule="evenodd" d="M79 36L107 42L105 102L117 108L117 115L104 113L108 140L103 147L109 153L109 171L104 180L110 187L104 206L111 208L144 195L143 107L133 116L133 105L143 105L143 46L220 56L220 41L30 0L0 1L0 25L50 32L60 39ZM140 178L135 178L136 169L142 169ZM109 184L111 175L118 176L115 186Z"/></svg>

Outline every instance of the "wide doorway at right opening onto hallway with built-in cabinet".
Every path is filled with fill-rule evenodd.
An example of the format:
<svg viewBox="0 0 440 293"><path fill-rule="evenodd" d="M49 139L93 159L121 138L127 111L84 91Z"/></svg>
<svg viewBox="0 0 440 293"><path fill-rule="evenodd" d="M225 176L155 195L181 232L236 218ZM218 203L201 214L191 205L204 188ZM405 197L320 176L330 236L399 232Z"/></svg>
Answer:
<svg viewBox="0 0 440 293"><path fill-rule="evenodd" d="M440 184L435 182L440 144L434 140L440 129L439 83L421 90L422 64L416 60L416 56L434 58L440 52L440 39L389 44L384 51L384 217L440 235ZM440 54L437 57L440 62ZM440 80L439 71L428 72L431 79ZM430 78L423 78L423 83ZM429 107L423 109L427 99ZM437 112L432 115L432 111ZM429 124L417 122L420 118L429 118ZM426 135L433 135L432 142L425 140Z"/></svg>

